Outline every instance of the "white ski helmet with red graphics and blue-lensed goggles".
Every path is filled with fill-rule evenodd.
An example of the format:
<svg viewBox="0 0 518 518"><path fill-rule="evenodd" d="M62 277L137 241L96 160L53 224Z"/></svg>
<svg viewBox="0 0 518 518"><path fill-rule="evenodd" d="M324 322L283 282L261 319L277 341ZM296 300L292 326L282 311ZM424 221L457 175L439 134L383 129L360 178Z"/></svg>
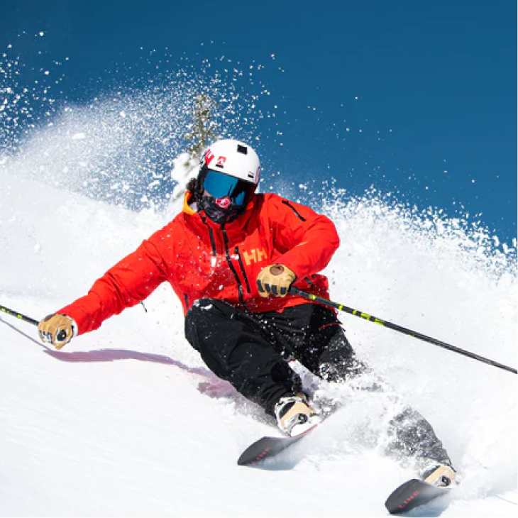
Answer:
<svg viewBox="0 0 518 518"><path fill-rule="evenodd" d="M253 148L230 138L218 140L204 153L197 189L244 208L257 189L259 176L259 157Z"/></svg>

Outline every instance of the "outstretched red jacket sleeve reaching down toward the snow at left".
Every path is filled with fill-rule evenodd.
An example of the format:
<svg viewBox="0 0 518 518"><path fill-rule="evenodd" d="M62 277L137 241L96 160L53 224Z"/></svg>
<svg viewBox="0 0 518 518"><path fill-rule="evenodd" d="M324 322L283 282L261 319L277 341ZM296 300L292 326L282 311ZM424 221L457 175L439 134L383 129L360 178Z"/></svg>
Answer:
<svg viewBox="0 0 518 518"><path fill-rule="evenodd" d="M66 314L77 323L78 334L94 331L114 314L142 302L165 280L165 268L157 248L143 243L126 258L110 268L88 294L57 313Z"/></svg>

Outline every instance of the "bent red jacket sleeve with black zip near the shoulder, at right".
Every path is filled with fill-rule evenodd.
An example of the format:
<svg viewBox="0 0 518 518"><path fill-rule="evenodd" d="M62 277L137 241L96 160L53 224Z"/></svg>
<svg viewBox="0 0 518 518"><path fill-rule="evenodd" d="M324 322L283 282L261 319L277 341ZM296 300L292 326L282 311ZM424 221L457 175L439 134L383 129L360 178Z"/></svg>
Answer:
<svg viewBox="0 0 518 518"><path fill-rule="evenodd" d="M297 280L324 270L340 246L333 221L287 199L276 197L274 203L275 243L286 250L275 262L290 268Z"/></svg>

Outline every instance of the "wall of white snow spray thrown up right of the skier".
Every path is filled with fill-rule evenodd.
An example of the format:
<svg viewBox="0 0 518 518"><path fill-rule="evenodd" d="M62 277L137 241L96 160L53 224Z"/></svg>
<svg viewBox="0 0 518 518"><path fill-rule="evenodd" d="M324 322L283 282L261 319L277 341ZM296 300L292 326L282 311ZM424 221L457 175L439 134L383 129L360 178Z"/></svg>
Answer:
<svg viewBox="0 0 518 518"><path fill-rule="evenodd" d="M467 219L375 191L337 192L324 206L341 235L329 267L337 302L518 368L516 250ZM517 489L518 454L507 447L517 375L360 319L346 329L360 356L436 426L467 475L463 491Z"/></svg>

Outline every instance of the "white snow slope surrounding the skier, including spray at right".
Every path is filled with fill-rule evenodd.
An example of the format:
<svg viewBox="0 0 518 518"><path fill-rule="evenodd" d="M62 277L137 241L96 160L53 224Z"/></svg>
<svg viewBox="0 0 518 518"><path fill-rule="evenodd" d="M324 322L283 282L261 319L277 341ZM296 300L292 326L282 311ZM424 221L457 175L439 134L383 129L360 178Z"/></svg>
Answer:
<svg viewBox="0 0 518 518"><path fill-rule="evenodd" d="M140 213L0 169L0 304L35 319L92 282L170 214ZM484 231L380 197L323 207L342 245L331 295L382 319L518 367L516 260ZM304 442L263 468L236 464L275 432L214 377L183 337L167 286L99 331L54 351L0 320L0 516L384 517L414 475L377 448L385 402L351 396ZM426 415L463 478L415 512L512 517L518 505L518 377L343 315L358 350ZM309 378L306 378L309 379Z"/></svg>

